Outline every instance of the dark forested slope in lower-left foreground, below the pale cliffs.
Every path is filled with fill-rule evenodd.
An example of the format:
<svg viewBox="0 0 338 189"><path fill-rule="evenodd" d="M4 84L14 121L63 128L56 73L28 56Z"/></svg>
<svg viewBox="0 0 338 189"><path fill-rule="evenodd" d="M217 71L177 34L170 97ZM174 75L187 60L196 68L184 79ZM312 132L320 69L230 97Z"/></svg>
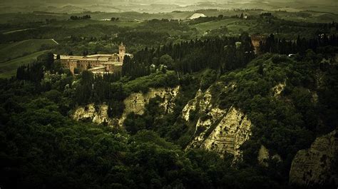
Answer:
<svg viewBox="0 0 338 189"><path fill-rule="evenodd" d="M1 86L11 85L10 93L22 90L20 82ZM45 96L56 100L56 94ZM219 188L230 183L242 188L253 179L231 168L231 160L204 150L185 153L153 131L130 137L111 127L72 121L47 98L28 93L11 104L4 106L10 115L0 111L8 118L1 119L0 128L0 181L6 188ZM233 174L241 181L230 182Z"/></svg>

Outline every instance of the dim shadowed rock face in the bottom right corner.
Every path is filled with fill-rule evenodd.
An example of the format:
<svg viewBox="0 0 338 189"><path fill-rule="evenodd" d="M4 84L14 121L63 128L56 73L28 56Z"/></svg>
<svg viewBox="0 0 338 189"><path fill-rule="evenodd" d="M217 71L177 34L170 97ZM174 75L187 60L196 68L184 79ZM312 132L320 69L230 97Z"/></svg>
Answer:
<svg viewBox="0 0 338 189"><path fill-rule="evenodd" d="M292 160L290 183L296 185L338 185L338 133L317 138L311 148L299 150Z"/></svg>

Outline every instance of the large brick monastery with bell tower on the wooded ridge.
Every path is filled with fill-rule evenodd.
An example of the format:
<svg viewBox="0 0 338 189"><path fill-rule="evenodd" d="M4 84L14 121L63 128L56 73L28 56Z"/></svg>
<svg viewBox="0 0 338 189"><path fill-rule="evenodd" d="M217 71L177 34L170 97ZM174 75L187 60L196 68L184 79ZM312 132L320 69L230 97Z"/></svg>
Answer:
<svg viewBox="0 0 338 189"><path fill-rule="evenodd" d="M126 53L126 46L121 43L118 53L113 54L93 54L88 56L67 56L61 55L60 61L63 68L69 68L74 74L78 71L92 71L94 74L114 73L121 71L124 56L133 56ZM54 55L54 59L57 55Z"/></svg>

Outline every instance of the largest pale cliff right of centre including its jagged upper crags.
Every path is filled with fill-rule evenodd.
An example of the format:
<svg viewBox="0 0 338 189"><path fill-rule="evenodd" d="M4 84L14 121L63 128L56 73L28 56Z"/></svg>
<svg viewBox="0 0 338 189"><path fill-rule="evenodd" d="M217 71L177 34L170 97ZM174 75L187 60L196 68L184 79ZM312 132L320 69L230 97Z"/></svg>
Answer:
<svg viewBox="0 0 338 189"><path fill-rule="evenodd" d="M235 87L233 84L226 88ZM222 109L212 104L211 88L205 93L198 91L195 98L185 106L182 117L190 121L190 114L198 114L193 141L188 148L205 148L220 155L231 153L235 160L241 157L240 146L249 140L252 123L235 107Z"/></svg>

